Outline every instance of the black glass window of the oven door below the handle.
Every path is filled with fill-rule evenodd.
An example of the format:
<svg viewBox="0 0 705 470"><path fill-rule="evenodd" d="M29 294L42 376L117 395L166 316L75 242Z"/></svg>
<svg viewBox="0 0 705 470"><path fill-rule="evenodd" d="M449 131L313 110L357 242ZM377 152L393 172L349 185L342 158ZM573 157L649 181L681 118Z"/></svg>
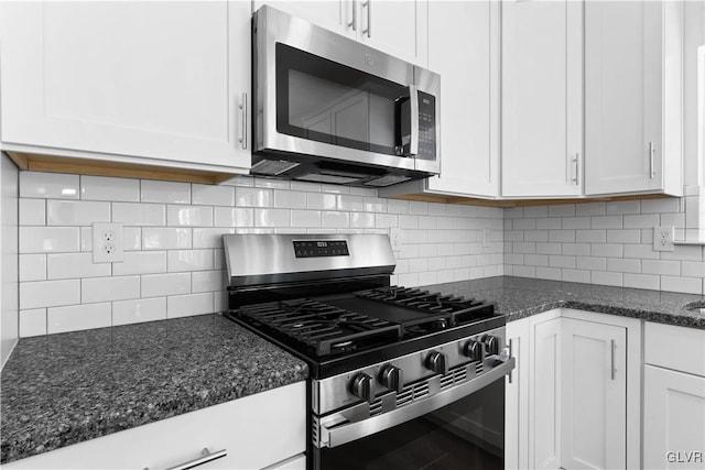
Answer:
<svg viewBox="0 0 705 470"><path fill-rule="evenodd" d="M314 468L500 470L505 468L505 379L408 423L332 449Z"/></svg>

